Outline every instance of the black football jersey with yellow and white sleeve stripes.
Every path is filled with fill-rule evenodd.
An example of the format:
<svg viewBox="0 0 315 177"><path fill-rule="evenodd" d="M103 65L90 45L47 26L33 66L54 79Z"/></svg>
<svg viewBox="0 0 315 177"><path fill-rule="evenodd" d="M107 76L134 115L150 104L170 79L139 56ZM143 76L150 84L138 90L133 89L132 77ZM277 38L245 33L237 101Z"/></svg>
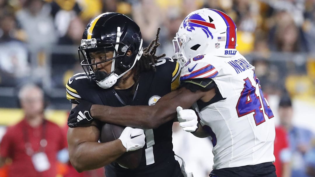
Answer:
<svg viewBox="0 0 315 177"><path fill-rule="evenodd" d="M95 81L90 81L85 73L71 77L66 84L67 99L75 103L83 99L94 104L122 107L126 105L154 105L159 98L179 86L180 65L172 58L161 58L155 65L156 71L140 74L139 82L131 89L102 89ZM180 176L180 166L174 158L172 145L172 124L169 121L157 129L146 129L146 145L143 147L142 159L136 169L126 169L118 163L105 167L106 176ZM102 127L100 125L100 127Z"/></svg>

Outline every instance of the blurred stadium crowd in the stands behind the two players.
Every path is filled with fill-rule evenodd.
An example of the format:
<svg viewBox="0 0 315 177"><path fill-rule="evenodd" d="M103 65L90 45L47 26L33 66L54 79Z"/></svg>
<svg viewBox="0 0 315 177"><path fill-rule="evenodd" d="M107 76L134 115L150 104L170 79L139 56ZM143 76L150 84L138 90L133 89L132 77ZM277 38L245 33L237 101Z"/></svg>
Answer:
<svg viewBox="0 0 315 177"><path fill-rule="evenodd" d="M10 116L16 113L7 108L19 107L18 90L30 82L43 88L49 109L70 110L65 84L83 72L77 47L96 15L128 15L140 26L144 46L161 27L157 54L171 57L180 23L198 8L215 8L234 20L237 49L255 65L276 115L280 98L291 97L299 116L293 123L315 128L315 0L0 0L0 124L13 124ZM56 122L65 125L66 113L57 115L63 117Z"/></svg>

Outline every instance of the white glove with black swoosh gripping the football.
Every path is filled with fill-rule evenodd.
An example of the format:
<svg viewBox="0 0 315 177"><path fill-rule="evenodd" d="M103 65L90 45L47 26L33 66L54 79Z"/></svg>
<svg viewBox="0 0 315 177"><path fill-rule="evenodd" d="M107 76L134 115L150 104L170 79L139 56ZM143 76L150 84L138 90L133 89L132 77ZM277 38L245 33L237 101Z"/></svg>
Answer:
<svg viewBox="0 0 315 177"><path fill-rule="evenodd" d="M126 152L141 149L145 145L144 131L138 128L126 127L118 139L126 148Z"/></svg>

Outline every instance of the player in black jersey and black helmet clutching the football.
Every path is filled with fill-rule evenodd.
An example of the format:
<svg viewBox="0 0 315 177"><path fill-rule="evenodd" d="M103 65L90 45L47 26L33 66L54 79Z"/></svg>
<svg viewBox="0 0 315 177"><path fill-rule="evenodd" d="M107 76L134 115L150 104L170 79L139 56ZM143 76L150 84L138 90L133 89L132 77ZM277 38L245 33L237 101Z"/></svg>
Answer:
<svg viewBox="0 0 315 177"><path fill-rule="evenodd" d="M158 33L159 30L156 39L142 51L140 29L125 15L104 13L93 19L79 47L79 55L83 56L80 64L85 73L74 75L66 84L66 96L73 107L80 102L112 107L154 105L175 90L179 86L180 66L165 55L155 56ZM76 113L76 122L92 122L88 111ZM106 165L109 177L183 176L172 150L173 119L158 128L141 129L146 136L144 147L141 136L137 141L123 136L141 134L140 129L130 127L119 139L98 143L103 124L93 121L90 126L69 128L69 157L77 171ZM142 159L136 169L126 169L113 162L124 152L141 147Z"/></svg>

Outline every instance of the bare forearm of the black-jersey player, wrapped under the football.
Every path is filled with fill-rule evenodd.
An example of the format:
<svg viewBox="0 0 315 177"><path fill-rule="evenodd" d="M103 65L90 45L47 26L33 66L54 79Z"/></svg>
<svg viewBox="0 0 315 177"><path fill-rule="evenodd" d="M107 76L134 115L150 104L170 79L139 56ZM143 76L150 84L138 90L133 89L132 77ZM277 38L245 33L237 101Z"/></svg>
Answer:
<svg viewBox="0 0 315 177"><path fill-rule="evenodd" d="M119 139L107 143L82 142L74 149L69 148L69 157L72 166L83 172L104 167L125 152Z"/></svg>

